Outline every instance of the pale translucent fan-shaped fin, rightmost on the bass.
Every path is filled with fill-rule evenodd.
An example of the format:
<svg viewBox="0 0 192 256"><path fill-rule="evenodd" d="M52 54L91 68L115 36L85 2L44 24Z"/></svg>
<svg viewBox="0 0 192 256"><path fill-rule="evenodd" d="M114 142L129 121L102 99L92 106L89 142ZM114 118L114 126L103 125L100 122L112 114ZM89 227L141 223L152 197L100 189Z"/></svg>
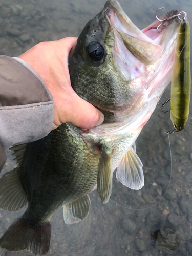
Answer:
<svg viewBox="0 0 192 256"><path fill-rule="evenodd" d="M134 147L126 153L117 167L116 178L131 189L144 186L143 164L134 151Z"/></svg>

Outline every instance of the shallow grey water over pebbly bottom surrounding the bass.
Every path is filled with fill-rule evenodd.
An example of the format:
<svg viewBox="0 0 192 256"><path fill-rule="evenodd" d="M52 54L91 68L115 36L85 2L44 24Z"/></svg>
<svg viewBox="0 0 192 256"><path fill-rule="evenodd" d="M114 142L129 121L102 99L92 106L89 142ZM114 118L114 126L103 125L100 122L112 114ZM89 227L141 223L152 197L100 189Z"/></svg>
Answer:
<svg viewBox="0 0 192 256"><path fill-rule="evenodd" d="M78 36L84 25L100 12L104 3L104 0L1 0L0 54L19 56L40 41ZM163 6L165 10L159 16L172 9L183 8L187 11L189 22L192 20L191 0L120 0L120 4L140 29L152 23L156 10ZM169 96L168 87L161 102ZM163 197L170 179L168 137L163 131L170 129L173 128L169 114L162 113L160 106L157 106L136 141L137 154L143 163L145 185L141 190L133 191L121 185L114 176L113 201L129 208L144 209L155 205ZM90 213L84 221L66 225L62 209L54 214L51 219L51 246L47 255L192 255L191 135L192 117L189 116L185 129L170 135L172 180L158 204L145 210L125 209L111 201L103 204L97 191L94 191L90 194ZM2 174L15 165L10 154L7 152L9 157ZM0 236L24 211L0 210ZM4 255L32 254L27 251L2 251Z"/></svg>

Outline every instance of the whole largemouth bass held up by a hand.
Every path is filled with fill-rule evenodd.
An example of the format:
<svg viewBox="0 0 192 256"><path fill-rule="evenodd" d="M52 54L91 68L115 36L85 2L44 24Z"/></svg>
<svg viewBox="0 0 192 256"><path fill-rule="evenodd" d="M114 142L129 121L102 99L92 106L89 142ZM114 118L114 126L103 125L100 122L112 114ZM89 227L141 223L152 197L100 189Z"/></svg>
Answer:
<svg viewBox="0 0 192 256"><path fill-rule="evenodd" d="M157 33L156 20L140 31L111 0L84 27L69 56L71 84L105 122L91 130L66 123L12 148L18 167L0 180L0 207L28 208L0 239L2 248L46 254L54 212L63 207L67 224L86 218L91 191L97 188L103 203L109 201L116 168L125 186L144 185L134 142L172 78L180 22L171 19Z"/></svg>

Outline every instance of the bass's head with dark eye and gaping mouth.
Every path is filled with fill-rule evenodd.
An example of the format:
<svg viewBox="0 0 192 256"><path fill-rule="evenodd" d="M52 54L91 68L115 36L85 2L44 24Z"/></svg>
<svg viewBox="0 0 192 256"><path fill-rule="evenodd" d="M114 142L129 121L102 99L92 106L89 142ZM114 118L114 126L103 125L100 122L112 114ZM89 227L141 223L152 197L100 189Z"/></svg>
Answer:
<svg viewBox="0 0 192 256"><path fill-rule="evenodd" d="M172 77L180 22L169 19L158 33L155 20L141 31L116 0L107 1L70 52L74 91L104 113L105 123L132 121L142 112L148 120Z"/></svg>

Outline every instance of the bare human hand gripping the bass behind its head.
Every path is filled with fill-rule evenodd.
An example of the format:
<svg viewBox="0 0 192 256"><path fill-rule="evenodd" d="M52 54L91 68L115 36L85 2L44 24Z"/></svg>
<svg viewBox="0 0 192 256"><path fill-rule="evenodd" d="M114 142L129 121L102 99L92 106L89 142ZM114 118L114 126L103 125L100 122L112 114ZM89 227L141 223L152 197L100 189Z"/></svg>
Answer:
<svg viewBox="0 0 192 256"><path fill-rule="evenodd" d="M71 87L68 55L77 38L40 42L19 56L45 82L54 100L53 129L62 123L91 129L104 121L103 114L89 102L81 99Z"/></svg>

